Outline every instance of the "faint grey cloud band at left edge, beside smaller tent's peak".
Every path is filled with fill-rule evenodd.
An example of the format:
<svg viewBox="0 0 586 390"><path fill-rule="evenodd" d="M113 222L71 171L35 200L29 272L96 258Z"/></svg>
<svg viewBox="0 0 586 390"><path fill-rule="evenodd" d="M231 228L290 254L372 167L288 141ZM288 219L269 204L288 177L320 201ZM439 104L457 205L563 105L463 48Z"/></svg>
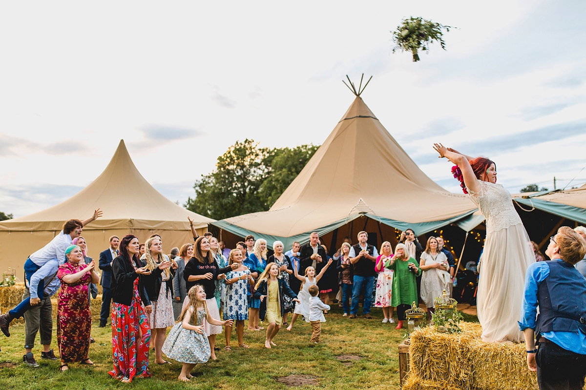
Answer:
<svg viewBox="0 0 586 390"><path fill-rule="evenodd" d="M46 153L52 156L67 154L86 154L90 148L81 141L57 141L42 144L21 137L13 137L0 133L0 157L17 157L22 154Z"/></svg>

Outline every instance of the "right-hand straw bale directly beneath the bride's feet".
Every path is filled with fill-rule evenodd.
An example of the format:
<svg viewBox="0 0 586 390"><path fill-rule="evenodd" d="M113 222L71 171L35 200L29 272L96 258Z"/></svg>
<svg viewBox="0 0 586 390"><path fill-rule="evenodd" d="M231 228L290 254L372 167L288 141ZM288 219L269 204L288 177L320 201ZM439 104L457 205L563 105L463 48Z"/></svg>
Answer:
<svg viewBox="0 0 586 390"><path fill-rule="evenodd" d="M537 390L537 375L527 368L525 344L470 343L473 387L487 390Z"/></svg>

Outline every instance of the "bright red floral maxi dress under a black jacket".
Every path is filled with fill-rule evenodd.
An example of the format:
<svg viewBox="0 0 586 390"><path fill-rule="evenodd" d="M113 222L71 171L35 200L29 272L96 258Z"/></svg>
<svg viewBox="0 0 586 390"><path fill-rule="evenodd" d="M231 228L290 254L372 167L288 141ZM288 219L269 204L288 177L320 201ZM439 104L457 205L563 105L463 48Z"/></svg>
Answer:
<svg viewBox="0 0 586 390"><path fill-rule="evenodd" d="M130 306L112 302L112 358L114 369L108 374L117 379L148 378L148 352L151 328L142 310L138 278L134 279ZM139 339L139 329L142 339Z"/></svg>

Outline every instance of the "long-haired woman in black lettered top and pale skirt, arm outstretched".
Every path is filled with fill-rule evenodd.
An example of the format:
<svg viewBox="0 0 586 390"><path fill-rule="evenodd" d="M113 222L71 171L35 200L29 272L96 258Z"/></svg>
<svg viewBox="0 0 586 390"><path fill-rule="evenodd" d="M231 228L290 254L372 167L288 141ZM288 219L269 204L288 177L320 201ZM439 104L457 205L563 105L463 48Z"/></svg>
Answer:
<svg viewBox="0 0 586 390"><path fill-rule="evenodd" d="M185 270L183 270L185 289L189 291L196 284L203 286L206 293L207 310L214 319L220 320L220 310L218 309L216 298L214 298L216 280L225 279L226 272L229 272L233 267L238 268L239 264L233 263L231 267L220 268L217 261L212 257L209 240L206 237L197 237L195 248L193 249L193 258L188 261L185 265ZM183 301L183 308L188 305L190 305L189 297L186 297L185 301ZM216 334L222 333L222 326L210 325L206 321L204 331L207 334L207 340L212 351L210 357L216 360L216 353L214 352Z"/></svg>

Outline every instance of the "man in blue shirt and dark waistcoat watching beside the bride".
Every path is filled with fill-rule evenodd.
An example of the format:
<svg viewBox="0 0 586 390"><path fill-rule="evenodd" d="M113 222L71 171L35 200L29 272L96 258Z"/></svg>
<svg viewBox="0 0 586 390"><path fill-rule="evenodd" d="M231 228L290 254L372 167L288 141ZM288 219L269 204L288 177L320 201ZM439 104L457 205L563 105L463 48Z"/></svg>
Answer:
<svg viewBox="0 0 586 390"><path fill-rule="evenodd" d="M551 260L533 263L525 274L519 329L525 336L527 366L537 371L540 390L584 387L586 279L574 264L585 253L586 240L562 226L546 250Z"/></svg>

